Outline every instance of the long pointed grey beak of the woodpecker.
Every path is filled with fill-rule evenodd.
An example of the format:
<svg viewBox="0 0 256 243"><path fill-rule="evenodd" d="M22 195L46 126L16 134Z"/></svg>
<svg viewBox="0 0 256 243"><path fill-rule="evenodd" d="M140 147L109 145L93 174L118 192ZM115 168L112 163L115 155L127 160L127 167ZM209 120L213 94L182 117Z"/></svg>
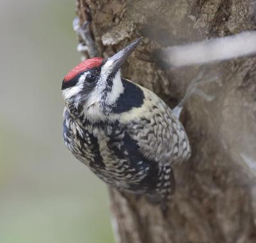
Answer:
<svg viewBox="0 0 256 243"><path fill-rule="evenodd" d="M106 61L106 66L108 66L108 69L111 70L111 72L113 73L118 71L119 68L121 68L122 64L125 62L125 60L127 59L127 57L129 57L129 55L134 51L134 49L140 44L142 39L143 37L132 41L132 43L127 45L127 47L120 50L112 57L109 57Z"/></svg>

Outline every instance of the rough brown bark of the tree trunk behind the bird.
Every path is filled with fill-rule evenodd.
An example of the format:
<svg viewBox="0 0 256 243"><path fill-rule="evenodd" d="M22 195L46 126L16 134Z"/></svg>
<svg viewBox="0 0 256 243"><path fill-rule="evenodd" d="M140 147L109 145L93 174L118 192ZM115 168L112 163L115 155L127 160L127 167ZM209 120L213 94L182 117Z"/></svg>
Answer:
<svg viewBox="0 0 256 243"><path fill-rule="evenodd" d="M153 90L174 107L200 66L172 68L158 51L170 45L255 30L254 0L77 0L81 21L107 57L138 36L143 43L123 77ZM175 165L175 195L164 216L143 197L110 189L116 241L256 242L256 58L207 64L204 86L211 103L192 97L182 122L192 145L187 163Z"/></svg>

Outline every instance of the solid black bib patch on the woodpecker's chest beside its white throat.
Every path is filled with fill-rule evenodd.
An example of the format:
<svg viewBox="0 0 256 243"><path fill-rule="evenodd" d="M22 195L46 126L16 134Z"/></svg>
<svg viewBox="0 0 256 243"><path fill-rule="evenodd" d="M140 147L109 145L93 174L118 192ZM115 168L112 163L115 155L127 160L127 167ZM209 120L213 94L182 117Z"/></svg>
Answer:
<svg viewBox="0 0 256 243"><path fill-rule="evenodd" d="M124 92L116 101L115 107L112 108L112 111L115 114L128 112L134 107L141 107L143 104L144 94L140 87L124 78L122 78L122 84L124 86Z"/></svg>

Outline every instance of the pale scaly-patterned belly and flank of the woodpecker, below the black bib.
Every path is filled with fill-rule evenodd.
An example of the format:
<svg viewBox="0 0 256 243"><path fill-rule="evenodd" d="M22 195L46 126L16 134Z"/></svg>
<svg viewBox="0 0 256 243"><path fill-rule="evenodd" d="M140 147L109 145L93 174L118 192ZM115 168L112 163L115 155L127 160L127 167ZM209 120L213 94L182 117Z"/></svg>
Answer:
<svg viewBox="0 0 256 243"><path fill-rule="evenodd" d="M145 97L150 97L152 101L145 104L147 111L143 112L142 119L134 120L129 126L129 133L138 141L140 151L146 158L158 163L172 165L188 159L191 151L181 122L155 94L147 89L143 91Z"/></svg>

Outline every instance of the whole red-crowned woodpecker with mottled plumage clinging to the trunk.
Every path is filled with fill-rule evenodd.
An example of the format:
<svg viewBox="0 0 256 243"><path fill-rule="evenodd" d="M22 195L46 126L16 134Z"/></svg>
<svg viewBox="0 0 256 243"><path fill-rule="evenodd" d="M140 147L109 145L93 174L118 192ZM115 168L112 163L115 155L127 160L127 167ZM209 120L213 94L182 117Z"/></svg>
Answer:
<svg viewBox="0 0 256 243"><path fill-rule="evenodd" d="M104 182L148 198L174 191L172 165L191 155L179 121L154 92L122 78L120 68L142 38L118 53L73 68L62 83L63 139L74 156Z"/></svg>

